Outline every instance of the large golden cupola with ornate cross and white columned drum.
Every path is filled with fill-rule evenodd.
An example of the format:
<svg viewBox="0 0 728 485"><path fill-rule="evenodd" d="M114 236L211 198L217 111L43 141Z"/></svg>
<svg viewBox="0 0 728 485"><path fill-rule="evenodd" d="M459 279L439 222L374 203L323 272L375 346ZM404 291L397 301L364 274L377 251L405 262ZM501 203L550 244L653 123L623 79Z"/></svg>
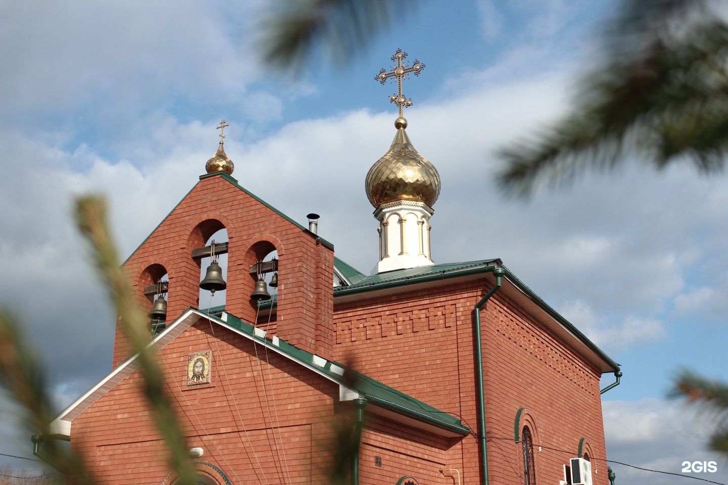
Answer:
<svg viewBox="0 0 728 485"><path fill-rule="evenodd" d="M381 84L387 79L397 81L397 94L389 101L399 108L395 120L397 134L389 151L369 169L365 180L367 197L379 220L379 262L372 274L405 268L433 265L430 252L430 217L432 206L440 196L440 174L429 160L420 155L407 136L407 120L403 108L412 100L402 92L402 81L408 73L419 73L424 64L415 60L405 63L406 52L397 49L392 71L384 69L374 78Z"/></svg>

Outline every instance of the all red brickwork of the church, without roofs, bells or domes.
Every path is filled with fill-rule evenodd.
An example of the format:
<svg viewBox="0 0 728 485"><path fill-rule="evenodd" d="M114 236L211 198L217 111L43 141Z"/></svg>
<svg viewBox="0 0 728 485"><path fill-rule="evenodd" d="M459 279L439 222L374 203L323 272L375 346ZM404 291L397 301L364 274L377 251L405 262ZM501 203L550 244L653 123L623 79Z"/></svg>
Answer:
<svg viewBox="0 0 728 485"><path fill-rule="evenodd" d="M335 446L331 424L352 406L347 399L357 397L339 401L340 391L354 392L348 382L340 389L341 381L312 367L333 369L328 361L352 366L477 432L473 310L492 288L485 273L335 302L333 249L218 173L202 177L124 263L138 302L151 308L143 288L167 274L167 321L189 306L199 308L201 268L191 251L222 228L229 237L226 313L245 322L257 316L258 331L316 357L306 354L311 362L304 366L230 329L239 327L206 318L179 327L159 357L186 446L205 449L205 462L236 485L323 485ZM272 251L279 258L277 305L258 314L250 300L255 278L249 266ZM568 335L557 334L511 297L518 295L501 289L480 311L490 483L523 483L518 430L528 425L537 483L558 484L563 463L577 456L580 442L593 463L606 458L601 370L563 340ZM129 353L117 331L114 366ZM194 366L189 356L207 353L209 381L188 386ZM90 459L102 484L162 484L173 470L151 425L138 372L105 392L74 418L72 446ZM402 420L387 406L376 413L372 406L365 408L360 485L395 485L403 476L416 477L420 485L483 482L476 436L443 433L419 415ZM594 470L594 484L607 485L606 467Z"/></svg>

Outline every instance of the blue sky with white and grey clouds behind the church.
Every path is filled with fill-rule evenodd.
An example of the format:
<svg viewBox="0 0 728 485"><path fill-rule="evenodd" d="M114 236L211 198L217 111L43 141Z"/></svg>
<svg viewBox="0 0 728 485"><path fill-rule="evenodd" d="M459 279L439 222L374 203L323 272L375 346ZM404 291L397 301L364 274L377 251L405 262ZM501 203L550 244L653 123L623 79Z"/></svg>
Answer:
<svg viewBox="0 0 728 485"><path fill-rule="evenodd" d="M27 319L59 405L108 371L113 339L73 194L108 194L126 256L194 185L225 118L240 183L301 223L319 213L336 254L368 272L376 221L363 181L396 116L396 88L373 77L401 47L427 65L404 92L408 134L443 180L433 259L501 257L622 364L604 395L610 458L677 473L712 459L707 425L665 392L681 366L728 380L726 177L630 160L531 201L492 183L499 148L569 108L615 4L417 2L363 52L284 75L261 62L262 1L0 0L0 294ZM27 456L21 439L0 452ZM724 466L704 478L726 481Z"/></svg>

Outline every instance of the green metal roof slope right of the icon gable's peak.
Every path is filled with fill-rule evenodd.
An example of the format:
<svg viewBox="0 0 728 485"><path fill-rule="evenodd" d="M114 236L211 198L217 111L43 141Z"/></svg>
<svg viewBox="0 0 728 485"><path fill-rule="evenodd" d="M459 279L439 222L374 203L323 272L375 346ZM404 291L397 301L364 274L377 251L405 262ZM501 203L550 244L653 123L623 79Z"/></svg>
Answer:
<svg viewBox="0 0 728 485"><path fill-rule="evenodd" d="M215 318L215 316L210 315L210 318ZM276 347L282 353L285 353L286 356L301 364L305 364L306 366L317 366L317 370L325 374L330 380L357 391L360 395L365 396L367 401L371 402L371 404L376 404L377 406L384 407L394 412L405 414L408 417L427 422L430 425L446 428L463 436L470 433L470 428L464 426L456 417L440 411L428 404L424 404L424 402L408 396L405 393L401 393L394 388L390 388L388 385L384 385L365 374L349 369L347 366L339 364L339 362L331 362L320 359L321 361L325 361L325 364L323 364L323 366L318 365L314 360L314 355L312 353L297 348L295 345L290 345L290 343L285 342L285 340L277 339L277 343L274 343L274 341L267 336L259 337L256 335L253 325L242 321L240 318L237 318L237 316L226 313L224 320L223 318L219 318L219 320L222 321L223 324L232 326L234 329L250 335L250 337L253 337L253 340L258 340L260 342L264 342L268 346Z"/></svg>

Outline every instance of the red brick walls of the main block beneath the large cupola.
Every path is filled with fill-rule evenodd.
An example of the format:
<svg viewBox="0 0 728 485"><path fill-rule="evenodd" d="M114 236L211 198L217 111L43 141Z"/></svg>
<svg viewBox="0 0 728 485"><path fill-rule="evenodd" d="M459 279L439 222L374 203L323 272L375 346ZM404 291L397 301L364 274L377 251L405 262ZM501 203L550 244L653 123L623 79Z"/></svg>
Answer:
<svg viewBox="0 0 728 485"><path fill-rule="evenodd" d="M489 288L478 280L336 305L336 359L462 416L477 432L473 308ZM502 292L491 297L480 318L491 484L523 483L521 444L513 441L513 430L524 406L537 422L534 440L542 445L535 452L539 483L558 484L561 465L577 456L582 437L590 439L594 457L606 458L598 369ZM463 483L482 481L476 438L455 442L446 461L446 468L460 470ZM607 484L606 465L593 463L595 483Z"/></svg>

